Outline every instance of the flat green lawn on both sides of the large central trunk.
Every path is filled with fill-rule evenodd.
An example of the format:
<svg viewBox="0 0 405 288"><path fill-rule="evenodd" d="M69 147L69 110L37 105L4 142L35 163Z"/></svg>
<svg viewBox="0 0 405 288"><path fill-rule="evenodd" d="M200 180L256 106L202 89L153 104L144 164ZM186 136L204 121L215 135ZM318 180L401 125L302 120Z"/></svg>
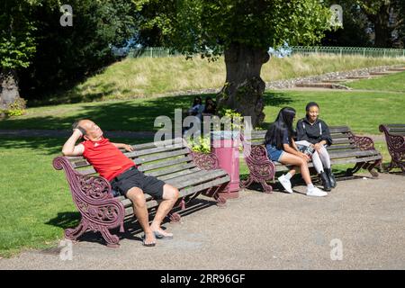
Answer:
<svg viewBox="0 0 405 288"><path fill-rule="evenodd" d="M70 129L76 119L90 118L103 130L157 130L153 127L157 116L174 119L175 109L188 107L192 100L188 95L31 108L26 115L0 121L0 129ZM303 117L310 101L320 104L320 117L329 125L348 125L356 133L380 134L381 123L405 122L405 92L269 91L263 127L284 106L295 108L297 119Z"/></svg>

